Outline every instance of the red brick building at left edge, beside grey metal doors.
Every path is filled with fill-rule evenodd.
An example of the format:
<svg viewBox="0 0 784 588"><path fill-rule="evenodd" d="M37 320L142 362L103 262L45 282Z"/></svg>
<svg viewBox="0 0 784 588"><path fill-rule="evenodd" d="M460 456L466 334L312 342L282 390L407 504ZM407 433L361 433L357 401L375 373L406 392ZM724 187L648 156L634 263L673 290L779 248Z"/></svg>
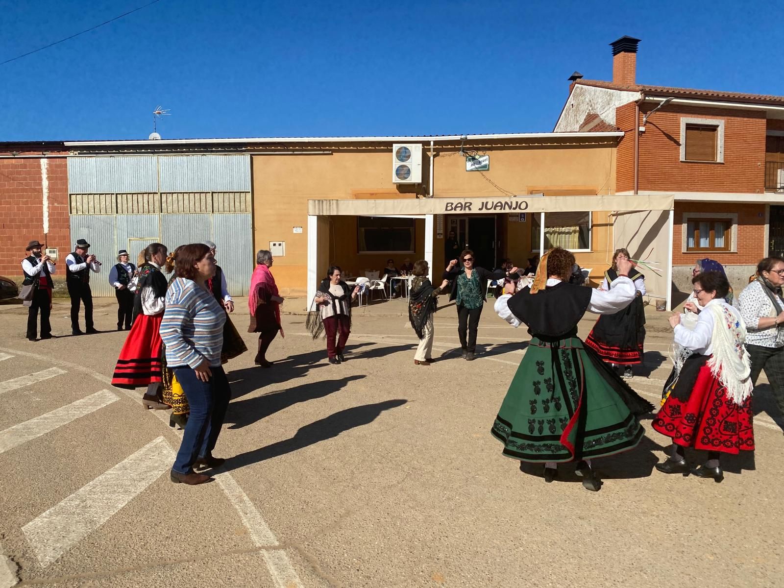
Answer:
<svg viewBox="0 0 784 588"><path fill-rule="evenodd" d="M0 146L0 274L17 283L31 239L57 249L60 263L71 252L66 155L62 142Z"/></svg>

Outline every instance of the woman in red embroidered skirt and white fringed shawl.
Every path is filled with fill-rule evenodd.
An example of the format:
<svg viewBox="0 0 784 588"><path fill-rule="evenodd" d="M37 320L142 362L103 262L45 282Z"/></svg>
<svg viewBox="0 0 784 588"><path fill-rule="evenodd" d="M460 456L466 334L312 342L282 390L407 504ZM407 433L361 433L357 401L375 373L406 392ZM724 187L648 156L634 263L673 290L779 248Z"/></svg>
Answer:
<svg viewBox="0 0 784 588"><path fill-rule="evenodd" d="M652 426L672 437L670 458L656 464L665 474L695 474L724 479L721 452L752 451L750 358L743 347L746 324L738 310L724 302L729 282L709 271L692 278L702 306L695 328L682 323L681 314L670 317L675 331L675 367L667 380L666 399ZM707 450L708 460L691 469L684 448Z"/></svg>

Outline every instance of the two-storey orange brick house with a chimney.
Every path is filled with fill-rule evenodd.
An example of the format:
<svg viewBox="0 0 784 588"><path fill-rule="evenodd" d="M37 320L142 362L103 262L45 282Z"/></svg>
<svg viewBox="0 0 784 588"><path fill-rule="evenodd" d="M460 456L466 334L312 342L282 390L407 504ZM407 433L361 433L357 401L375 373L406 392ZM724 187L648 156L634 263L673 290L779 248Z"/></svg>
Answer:
<svg viewBox="0 0 784 588"><path fill-rule="evenodd" d="M676 288L691 289L705 257L742 287L760 258L784 252L784 96L638 84L638 43L611 43L612 82L572 75L555 131L624 132L617 194L673 194Z"/></svg>

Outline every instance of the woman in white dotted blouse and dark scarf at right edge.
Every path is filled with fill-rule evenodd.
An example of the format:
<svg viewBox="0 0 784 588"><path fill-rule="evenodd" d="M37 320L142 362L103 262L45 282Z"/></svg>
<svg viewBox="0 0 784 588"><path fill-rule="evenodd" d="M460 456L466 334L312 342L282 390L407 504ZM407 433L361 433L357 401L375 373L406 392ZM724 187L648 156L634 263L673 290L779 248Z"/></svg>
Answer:
<svg viewBox="0 0 784 588"><path fill-rule="evenodd" d="M751 381L764 369L784 416L784 259L766 257L757 264L755 278L740 293L740 314L749 330L746 350L751 358Z"/></svg>

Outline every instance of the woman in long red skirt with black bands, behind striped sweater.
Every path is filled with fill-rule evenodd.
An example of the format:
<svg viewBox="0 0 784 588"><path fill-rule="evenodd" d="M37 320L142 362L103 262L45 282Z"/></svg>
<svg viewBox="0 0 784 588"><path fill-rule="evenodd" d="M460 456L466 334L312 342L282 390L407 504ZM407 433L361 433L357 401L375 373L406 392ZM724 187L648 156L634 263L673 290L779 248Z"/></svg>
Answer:
<svg viewBox="0 0 784 588"><path fill-rule="evenodd" d="M166 278L161 267L166 261L166 246L147 245L145 262L139 268L139 281L133 300L133 325L114 368L112 386L147 387L143 397L146 408L165 410L161 394L161 326L165 308Z"/></svg>

